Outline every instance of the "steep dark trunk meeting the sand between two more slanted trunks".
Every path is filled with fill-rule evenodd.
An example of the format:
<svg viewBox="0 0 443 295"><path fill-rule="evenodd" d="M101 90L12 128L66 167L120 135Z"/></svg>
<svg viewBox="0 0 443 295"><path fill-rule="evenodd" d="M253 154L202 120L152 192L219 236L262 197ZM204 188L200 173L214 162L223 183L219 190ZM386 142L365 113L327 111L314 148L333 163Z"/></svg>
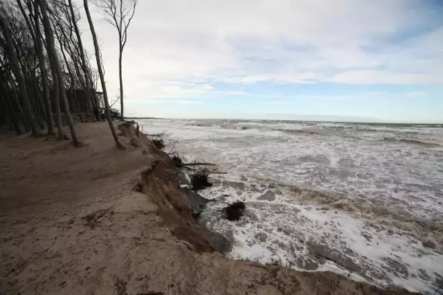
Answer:
<svg viewBox="0 0 443 295"><path fill-rule="evenodd" d="M34 3L34 10L35 10L34 12L35 41L37 45L37 53L39 56L40 73L42 73L43 102L46 111L46 124L48 125L48 135L55 135L53 107L51 106L51 95L49 93L49 87L48 87L48 73L46 73L46 68L44 66L43 45L42 45L42 39L40 39L42 37L42 34L40 32L39 8L37 6L37 2ZM60 131L59 131L59 136L60 136Z"/></svg>

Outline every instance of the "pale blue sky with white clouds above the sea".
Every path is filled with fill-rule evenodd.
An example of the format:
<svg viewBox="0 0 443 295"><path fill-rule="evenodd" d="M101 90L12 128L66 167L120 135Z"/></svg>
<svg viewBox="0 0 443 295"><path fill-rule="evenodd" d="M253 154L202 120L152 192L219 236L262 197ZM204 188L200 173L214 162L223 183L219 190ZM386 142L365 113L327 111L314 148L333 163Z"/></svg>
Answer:
<svg viewBox="0 0 443 295"><path fill-rule="evenodd" d="M90 9L114 101L118 35ZM442 0L139 0L125 116L443 123L442 16Z"/></svg>

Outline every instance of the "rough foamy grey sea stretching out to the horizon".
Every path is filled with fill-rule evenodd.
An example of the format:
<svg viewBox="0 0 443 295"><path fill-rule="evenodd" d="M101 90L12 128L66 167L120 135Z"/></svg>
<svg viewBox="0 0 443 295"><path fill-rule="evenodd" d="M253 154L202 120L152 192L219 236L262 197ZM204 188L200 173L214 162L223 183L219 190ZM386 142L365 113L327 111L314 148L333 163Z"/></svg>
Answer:
<svg viewBox="0 0 443 295"><path fill-rule="evenodd" d="M216 164L199 218L226 256L434 294L443 284L443 124L138 120ZM244 216L226 220L226 203Z"/></svg>

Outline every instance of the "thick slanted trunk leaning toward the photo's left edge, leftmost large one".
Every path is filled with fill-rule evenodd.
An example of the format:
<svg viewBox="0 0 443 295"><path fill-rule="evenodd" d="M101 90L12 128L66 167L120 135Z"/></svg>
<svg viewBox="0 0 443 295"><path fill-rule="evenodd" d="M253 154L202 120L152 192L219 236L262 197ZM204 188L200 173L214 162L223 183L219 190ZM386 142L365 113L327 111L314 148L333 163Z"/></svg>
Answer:
<svg viewBox="0 0 443 295"><path fill-rule="evenodd" d="M24 103L26 120L28 120L30 124L31 134L33 136L38 136L39 129L37 124L35 123L35 117L33 114L32 107L30 105L28 91L26 91L24 78L21 75L19 61L17 60L17 53L15 52L14 44L12 43L12 37L10 35L9 28L6 25L6 21L3 19L3 15L1 14L0 14L0 28L3 31L3 37L5 38L4 41L3 39L0 38L0 44L5 48L5 52L6 55L8 56L8 60L12 68L12 71L14 72L15 79L17 79L17 83L19 84L19 92Z"/></svg>

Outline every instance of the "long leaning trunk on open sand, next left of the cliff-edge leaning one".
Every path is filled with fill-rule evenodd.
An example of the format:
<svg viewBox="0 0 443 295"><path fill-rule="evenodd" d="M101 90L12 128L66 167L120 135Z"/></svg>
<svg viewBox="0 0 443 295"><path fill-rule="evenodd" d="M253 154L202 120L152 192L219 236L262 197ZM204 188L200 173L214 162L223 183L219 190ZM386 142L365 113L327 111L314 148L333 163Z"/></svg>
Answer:
<svg viewBox="0 0 443 295"><path fill-rule="evenodd" d="M71 137L74 146L80 146L81 143L78 140L77 133L75 133L74 122L72 120L71 111L69 111L68 98L66 97L66 89L64 88L62 69L60 68L60 62L58 60L57 51L55 50L55 42L53 36L53 30L51 28L51 23L48 18L48 12L46 11L46 3L44 0L37 0L39 2L40 10L42 10L43 26L46 35L46 42L48 44L48 54L52 55L52 61L54 63L55 70L58 76L58 86L60 87L60 94L62 95L62 100L64 104L64 112L66 113L66 119L69 124L69 131L71 131Z"/></svg>

